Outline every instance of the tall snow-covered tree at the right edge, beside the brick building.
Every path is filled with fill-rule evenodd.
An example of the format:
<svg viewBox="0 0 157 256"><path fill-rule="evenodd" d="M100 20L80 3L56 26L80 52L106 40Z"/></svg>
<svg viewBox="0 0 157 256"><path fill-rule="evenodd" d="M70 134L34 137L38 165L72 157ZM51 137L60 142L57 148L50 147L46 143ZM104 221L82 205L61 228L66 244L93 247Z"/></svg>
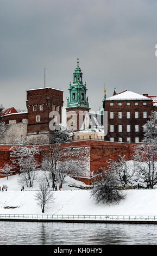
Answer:
<svg viewBox="0 0 157 256"><path fill-rule="evenodd" d="M136 175L153 188L157 184L157 112L152 112L143 126L143 141L134 148L133 159L136 164Z"/></svg>

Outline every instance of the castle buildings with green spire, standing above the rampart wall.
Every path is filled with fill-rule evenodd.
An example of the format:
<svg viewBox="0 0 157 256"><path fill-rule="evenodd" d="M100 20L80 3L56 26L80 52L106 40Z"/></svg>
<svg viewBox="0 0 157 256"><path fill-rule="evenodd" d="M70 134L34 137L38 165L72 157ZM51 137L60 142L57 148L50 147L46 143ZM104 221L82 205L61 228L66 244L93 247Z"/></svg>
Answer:
<svg viewBox="0 0 157 256"><path fill-rule="evenodd" d="M79 66L70 82L70 98L67 97L66 113L68 130L74 132L73 140L101 139L110 142L138 143L143 139L143 125L151 111L157 109L157 96L137 94L125 90L106 98L104 90L103 108L99 115L105 119L93 125L86 96L86 82ZM28 145L48 144L55 125L62 123L63 91L50 87L27 90L27 112L18 113L14 107L5 109L2 117L8 129L0 144L16 144L26 141ZM107 113L105 115L104 113ZM95 117L95 119L98 119ZM97 121L97 120L96 120Z"/></svg>

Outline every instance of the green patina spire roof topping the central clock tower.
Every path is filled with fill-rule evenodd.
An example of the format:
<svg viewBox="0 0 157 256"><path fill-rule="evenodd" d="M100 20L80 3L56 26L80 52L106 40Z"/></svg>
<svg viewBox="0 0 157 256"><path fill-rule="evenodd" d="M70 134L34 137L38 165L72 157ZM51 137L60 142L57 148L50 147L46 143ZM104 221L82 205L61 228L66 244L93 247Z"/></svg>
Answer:
<svg viewBox="0 0 157 256"><path fill-rule="evenodd" d="M85 107L89 108L88 97L86 97L86 82L83 84L83 73L79 67L79 59L77 59L77 67L73 73L73 83L70 82L70 99L67 97L67 107Z"/></svg>

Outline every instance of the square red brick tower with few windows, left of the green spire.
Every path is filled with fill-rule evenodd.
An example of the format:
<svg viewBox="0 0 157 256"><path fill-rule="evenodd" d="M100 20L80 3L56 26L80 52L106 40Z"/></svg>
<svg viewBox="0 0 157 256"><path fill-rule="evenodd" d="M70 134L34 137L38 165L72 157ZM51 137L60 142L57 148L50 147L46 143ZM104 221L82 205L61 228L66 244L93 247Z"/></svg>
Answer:
<svg viewBox="0 0 157 256"><path fill-rule="evenodd" d="M26 105L27 144L47 144L49 132L55 123L61 123L63 91L49 87L27 90Z"/></svg>

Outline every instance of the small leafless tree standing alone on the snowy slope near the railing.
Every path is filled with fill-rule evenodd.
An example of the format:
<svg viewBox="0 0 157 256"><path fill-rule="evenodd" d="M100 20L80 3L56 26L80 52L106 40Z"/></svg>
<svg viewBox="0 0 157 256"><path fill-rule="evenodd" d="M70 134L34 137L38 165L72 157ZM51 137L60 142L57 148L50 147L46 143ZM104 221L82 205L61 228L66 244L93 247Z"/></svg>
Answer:
<svg viewBox="0 0 157 256"><path fill-rule="evenodd" d="M47 182L43 181L39 185L40 191L38 191L35 195L35 200L37 200L37 204L41 206L42 213L45 212L45 206L49 203L54 202L53 192L49 190Z"/></svg>

